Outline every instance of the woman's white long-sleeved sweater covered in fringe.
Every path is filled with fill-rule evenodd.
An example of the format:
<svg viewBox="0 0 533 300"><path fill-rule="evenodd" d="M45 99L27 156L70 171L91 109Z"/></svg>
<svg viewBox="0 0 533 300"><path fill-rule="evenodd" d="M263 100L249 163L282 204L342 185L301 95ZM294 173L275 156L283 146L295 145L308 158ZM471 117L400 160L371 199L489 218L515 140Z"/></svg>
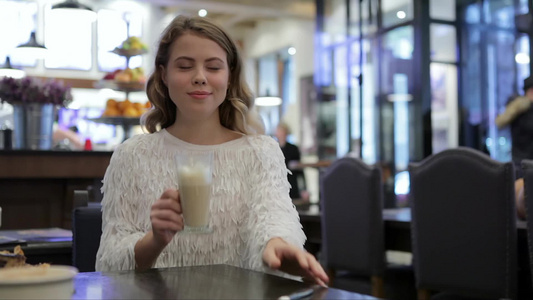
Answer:
<svg viewBox="0 0 533 300"><path fill-rule="evenodd" d="M96 271L135 268L134 246L151 230L152 204L165 189L179 188L174 156L180 151L214 153L213 232L178 232L155 268L229 264L271 272L262 261L268 240L281 237L303 248L305 235L289 197L288 171L276 141L246 135L220 145L194 145L163 129L133 136L113 153L103 180Z"/></svg>

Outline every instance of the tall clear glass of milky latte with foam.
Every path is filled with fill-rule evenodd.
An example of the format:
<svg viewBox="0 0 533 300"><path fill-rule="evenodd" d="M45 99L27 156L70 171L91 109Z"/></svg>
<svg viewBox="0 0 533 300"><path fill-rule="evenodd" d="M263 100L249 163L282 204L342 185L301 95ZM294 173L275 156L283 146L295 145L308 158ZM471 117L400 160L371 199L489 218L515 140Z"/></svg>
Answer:
<svg viewBox="0 0 533 300"><path fill-rule="evenodd" d="M183 231L208 233L213 152L186 152L176 155L178 188L185 226Z"/></svg>

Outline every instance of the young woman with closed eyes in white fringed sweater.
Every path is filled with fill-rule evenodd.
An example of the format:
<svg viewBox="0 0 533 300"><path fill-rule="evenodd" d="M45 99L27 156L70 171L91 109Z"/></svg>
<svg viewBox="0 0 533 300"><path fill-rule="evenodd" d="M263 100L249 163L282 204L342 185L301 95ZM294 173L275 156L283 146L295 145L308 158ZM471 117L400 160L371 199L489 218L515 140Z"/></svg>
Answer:
<svg viewBox="0 0 533 300"><path fill-rule="evenodd" d="M303 250L283 154L252 113L228 34L203 18L175 18L162 34L147 94L149 134L118 147L105 174L96 270L230 264L327 283ZM214 153L212 233L182 232L174 157L184 151Z"/></svg>

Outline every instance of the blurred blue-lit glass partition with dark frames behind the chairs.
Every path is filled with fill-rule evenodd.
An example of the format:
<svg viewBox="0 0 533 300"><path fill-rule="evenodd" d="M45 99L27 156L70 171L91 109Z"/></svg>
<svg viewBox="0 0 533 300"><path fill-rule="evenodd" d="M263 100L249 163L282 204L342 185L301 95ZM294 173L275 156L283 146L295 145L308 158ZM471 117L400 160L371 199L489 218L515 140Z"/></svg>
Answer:
<svg viewBox="0 0 533 300"><path fill-rule="evenodd" d="M351 151L379 164L385 201L399 206L411 161L457 146L510 159L509 132L494 119L529 76L529 39L514 28L527 0L318 3L321 158Z"/></svg>

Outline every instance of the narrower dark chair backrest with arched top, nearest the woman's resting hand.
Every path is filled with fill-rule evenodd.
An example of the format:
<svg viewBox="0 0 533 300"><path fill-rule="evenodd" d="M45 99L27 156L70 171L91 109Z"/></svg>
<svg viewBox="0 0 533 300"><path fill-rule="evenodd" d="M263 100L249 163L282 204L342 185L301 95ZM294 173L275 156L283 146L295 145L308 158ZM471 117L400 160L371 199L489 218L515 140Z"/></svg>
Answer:
<svg viewBox="0 0 533 300"><path fill-rule="evenodd" d="M320 178L322 253L328 268L362 276L385 269L381 170L344 157Z"/></svg>

